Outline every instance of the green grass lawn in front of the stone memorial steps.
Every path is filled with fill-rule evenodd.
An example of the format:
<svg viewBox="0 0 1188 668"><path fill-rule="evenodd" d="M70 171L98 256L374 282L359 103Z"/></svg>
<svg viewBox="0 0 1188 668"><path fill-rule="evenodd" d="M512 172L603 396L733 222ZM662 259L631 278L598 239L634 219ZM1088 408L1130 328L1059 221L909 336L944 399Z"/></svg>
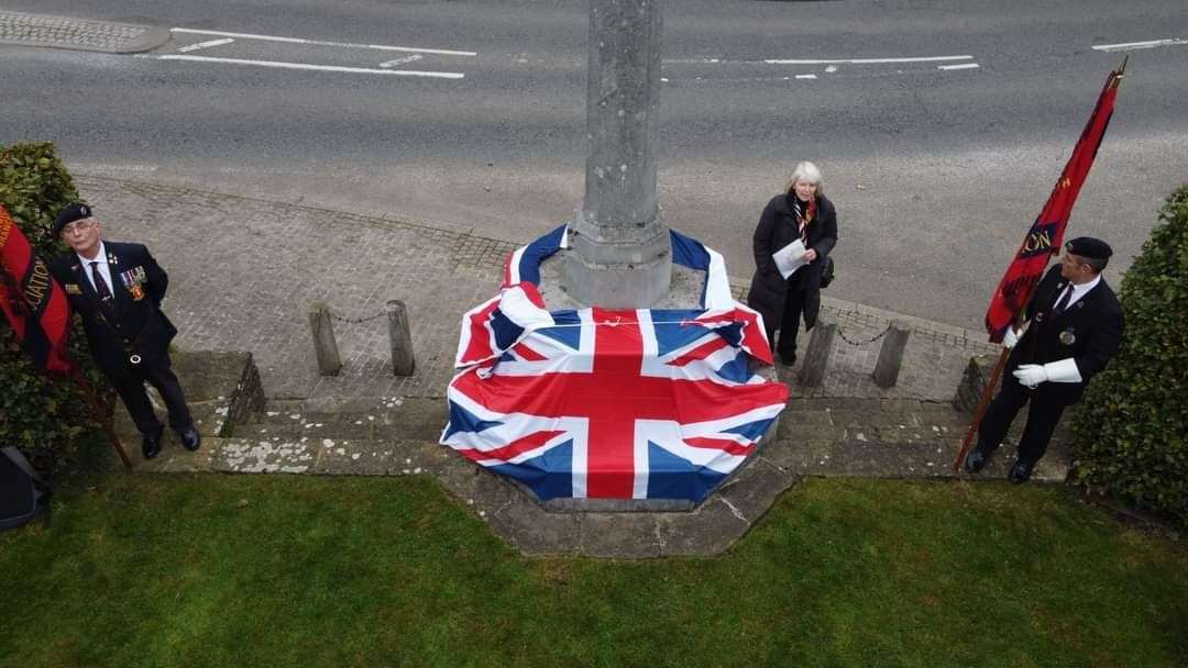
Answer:
<svg viewBox="0 0 1188 668"><path fill-rule="evenodd" d="M526 559L432 479L95 475L0 534L0 666L1188 666L1184 539L805 481L728 554Z"/></svg>

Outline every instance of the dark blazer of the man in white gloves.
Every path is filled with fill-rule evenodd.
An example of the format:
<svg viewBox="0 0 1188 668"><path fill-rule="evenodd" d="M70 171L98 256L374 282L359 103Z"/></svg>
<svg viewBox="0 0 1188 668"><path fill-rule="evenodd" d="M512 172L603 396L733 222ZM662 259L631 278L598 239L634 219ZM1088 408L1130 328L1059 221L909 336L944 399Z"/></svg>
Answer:
<svg viewBox="0 0 1188 668"><path fill-rule="evenodd" d="M1011 350L1007 374L1019 364L1047 364L1072 357L1081 382L1041 383L1036 389L1067 406L1081 397L1089 378L1118 352L1123 316L1118 298L1105 279L1063 313L1054 313L1055 303L1066 286L1068 281L1060 275L1060 265L1048 269L1036 286L1026 311L1031 325ZM1013 381L1013 376L1005 377Z"/></svg>

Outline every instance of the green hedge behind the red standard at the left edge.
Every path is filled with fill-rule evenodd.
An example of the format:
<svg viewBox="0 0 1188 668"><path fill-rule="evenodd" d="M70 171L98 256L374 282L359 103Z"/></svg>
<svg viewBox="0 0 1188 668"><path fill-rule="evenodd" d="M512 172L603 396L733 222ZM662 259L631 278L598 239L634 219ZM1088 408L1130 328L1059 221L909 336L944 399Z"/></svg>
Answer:
<svg viewBox="0 0 1188 668"><path fill-rule="evenodd" d="M64 250L50 237L53 218L77 201L78 191L52 144L0 146L0 204L46 262ZM77 319L70 348L86 374L99 378ZM70 460L83 433L94 426L75 383L38 373L2 316L0 388L0 445L18 446L44 472Z"/></svg>

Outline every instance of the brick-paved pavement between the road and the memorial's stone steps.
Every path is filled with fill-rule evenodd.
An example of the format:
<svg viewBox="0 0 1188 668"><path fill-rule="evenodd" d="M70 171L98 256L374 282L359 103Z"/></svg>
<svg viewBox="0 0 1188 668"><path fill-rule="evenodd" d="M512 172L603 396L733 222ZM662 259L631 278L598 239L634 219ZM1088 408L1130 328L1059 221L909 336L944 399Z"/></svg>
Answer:
<svg viewBox="0 0 1188 668"><path fill-rule="evenodd" d="M94 176L76 183L108 238L148 244L169 271L166 311L181 330L177 345L251 351L270 397L443 396L461 316L495 294L514 247L314 206ZM748 271L733 269L735 276ZM741 294L746 280L732 285ZM345 365L336 377L320 377L307 324L315 299L349 319L380 314L388 299L404 300L416 375L392 375L387 323L379 317L335 323ZM912 333L899 383L883 389L870 378L881 342L855 346L839 339L824 386L792 383L795 396L944 401L969 356L991 350L978 332L828 297L823 317L859 342L892 318L906 322ZM791 378L796 370L781 375Z"/></svg>

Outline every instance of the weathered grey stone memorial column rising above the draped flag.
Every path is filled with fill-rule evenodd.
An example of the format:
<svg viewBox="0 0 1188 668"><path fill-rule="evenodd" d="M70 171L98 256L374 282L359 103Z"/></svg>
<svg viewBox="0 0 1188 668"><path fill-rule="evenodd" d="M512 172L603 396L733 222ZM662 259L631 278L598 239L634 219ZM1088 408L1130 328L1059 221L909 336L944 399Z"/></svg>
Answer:
<svg viewBox="0 0 1188 668"><path fill-rule="evenodd" d="M668 294L672 252L656 202L661 83L655 0L590 0L586 197L563 284L586 306L644 308Z"/></svg>

